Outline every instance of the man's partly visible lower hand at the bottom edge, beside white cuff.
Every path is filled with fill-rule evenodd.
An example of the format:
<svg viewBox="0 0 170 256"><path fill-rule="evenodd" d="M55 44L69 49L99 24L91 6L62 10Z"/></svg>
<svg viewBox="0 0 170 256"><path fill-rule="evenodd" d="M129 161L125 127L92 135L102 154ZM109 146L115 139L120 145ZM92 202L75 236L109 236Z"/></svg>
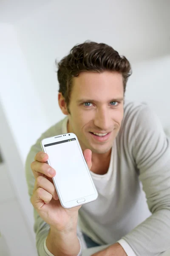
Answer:
<svg viewBox="0 0 170 256"><path fill-rule="evenodd" d="M127 256L127 254L122 246L119 243L116 243L91 256Z"/></svg>

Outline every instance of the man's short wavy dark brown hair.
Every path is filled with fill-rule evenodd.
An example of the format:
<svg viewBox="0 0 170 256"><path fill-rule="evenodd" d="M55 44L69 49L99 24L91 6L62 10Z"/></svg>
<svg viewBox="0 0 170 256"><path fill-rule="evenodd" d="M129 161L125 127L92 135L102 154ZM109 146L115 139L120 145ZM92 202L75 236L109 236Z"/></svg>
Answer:
<svg viewBox="0 0 170 256"><path fill-rule="evenodd" d="M79 76L84 71L121 73L124 92L127 79L132 73L127 58L120 56L117 51L107 44L86 41L74 46L70 53L59 61L57 71L59 92L65 98L67 107L69 107L72 78Z"/></svg>

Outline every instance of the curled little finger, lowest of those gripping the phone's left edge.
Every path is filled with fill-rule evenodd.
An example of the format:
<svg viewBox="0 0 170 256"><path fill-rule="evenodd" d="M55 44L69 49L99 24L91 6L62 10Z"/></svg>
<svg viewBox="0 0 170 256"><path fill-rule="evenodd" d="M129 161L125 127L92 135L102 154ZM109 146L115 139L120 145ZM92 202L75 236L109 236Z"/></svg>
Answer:
<svg viewBox="0 0 170 256"><path fill-rule="evenodd" d="M35 209L41 209L44 204L49 204L53 196L45 189L38 188L31 197L31 203Z"/></svg>

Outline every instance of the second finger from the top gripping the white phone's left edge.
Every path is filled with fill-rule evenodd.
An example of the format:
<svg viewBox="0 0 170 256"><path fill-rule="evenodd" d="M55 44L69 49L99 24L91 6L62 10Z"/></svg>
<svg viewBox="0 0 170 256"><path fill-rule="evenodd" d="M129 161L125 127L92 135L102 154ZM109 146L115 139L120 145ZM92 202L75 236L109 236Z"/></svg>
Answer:
<svg viewBox="0 0 170 256"><path fill-rule="evenodd" d="M31 169L35 178L40 175L46 175L47 177L54 177L56 175L56 171L48 163L34 161L31 163Z"/></svg>

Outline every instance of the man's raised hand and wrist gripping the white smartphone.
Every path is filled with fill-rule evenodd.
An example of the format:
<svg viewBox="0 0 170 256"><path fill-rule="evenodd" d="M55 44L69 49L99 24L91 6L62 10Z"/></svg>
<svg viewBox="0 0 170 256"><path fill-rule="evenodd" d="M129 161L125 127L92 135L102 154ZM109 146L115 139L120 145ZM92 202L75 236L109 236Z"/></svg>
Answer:
<svg viewBox="0 0 170 256"><path fill-rule="evenodd" d="M86 149L84 156L88 168L91 169L91 150ZM80 206L66 209L60 204L52 180L56 171L46 162L48 154L41 151L36 154L34 160L31 163L35 177L31 203L40 217L50 226L46 246L55 256L77 255L80 250L77 238L77 219Z"/></svg>

